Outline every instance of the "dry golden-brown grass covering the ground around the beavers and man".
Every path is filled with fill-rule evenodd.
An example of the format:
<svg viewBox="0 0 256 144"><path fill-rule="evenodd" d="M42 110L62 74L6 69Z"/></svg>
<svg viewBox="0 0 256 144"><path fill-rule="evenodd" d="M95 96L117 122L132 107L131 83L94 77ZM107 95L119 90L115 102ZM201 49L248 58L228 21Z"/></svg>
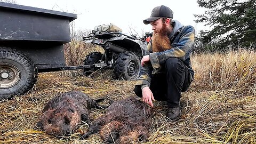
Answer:
<svg viewBox="0 0 256 144"><path fill-rule="evenodd" d="M144 143L256 143L255 59L254 51L243 50L194 55L195 81L182 93L181 119L167 122L166 103L154 101L151 135ZM79 140L79 133L58 139L33 127L45 103L58 93L76 89L92 98L135 96L135 81L116 81L111 72L97 71L91 77L83 77L79 71L76 76L70 71L39 74L33 90L1 102L0 143L104 143L97 134L87 140ZM91 117L105 111L93 110ZM87 128L81 125L82 130Z"/></svg>

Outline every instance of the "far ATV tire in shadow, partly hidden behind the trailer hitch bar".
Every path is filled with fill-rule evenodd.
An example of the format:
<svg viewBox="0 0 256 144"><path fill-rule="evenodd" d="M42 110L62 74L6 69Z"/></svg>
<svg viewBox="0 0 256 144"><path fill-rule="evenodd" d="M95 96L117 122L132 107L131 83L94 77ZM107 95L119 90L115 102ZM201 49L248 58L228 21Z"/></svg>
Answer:
<svg viewBox="0 0 256 144"><path fill-rule="evenodd" d="M100 60L102 60L104 55L101 52L92 52L88 55L86 55L84 59L84 65L93 65L94 63L99 63ZM84 68L84 75L89 76L93 73L93 71L96 71L97 68Z"/></svg>

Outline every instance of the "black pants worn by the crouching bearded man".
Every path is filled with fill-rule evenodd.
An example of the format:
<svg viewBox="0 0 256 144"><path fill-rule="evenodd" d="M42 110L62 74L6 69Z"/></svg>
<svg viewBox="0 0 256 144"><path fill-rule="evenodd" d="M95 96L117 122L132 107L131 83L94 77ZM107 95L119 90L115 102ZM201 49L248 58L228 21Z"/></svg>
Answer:
<svg viewBox="0 0 256 144"><path fill-rule="evenodd" d="M151 76L150 90L155 100L167 101L168 107L178 107L181 92L187 91L191 83L189 70L177 58L167 59L164 65L164 73ZM142 98L141 85L135 85L134 92Z"/></svg>

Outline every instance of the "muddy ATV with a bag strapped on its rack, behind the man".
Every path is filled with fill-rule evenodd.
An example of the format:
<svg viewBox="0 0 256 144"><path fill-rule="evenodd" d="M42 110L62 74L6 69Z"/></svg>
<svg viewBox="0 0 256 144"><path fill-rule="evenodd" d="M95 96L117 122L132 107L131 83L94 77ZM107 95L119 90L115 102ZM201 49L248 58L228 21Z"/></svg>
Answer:
<svg viewBox="0 0 256 144"><path fill-rule="evenodd" d="M133 80L140 74L140 60L146 50L147 44L140 41L136 36L126 35L122 30L113 25L96 26L92 33L83 37L86 43L99 45L104 53L92 52L86 55L84 65L99 65L114 69L117 79ZM100 66L99 66L100 67ZM86 76L93 73L99 67L85 68Z"/></svg>

